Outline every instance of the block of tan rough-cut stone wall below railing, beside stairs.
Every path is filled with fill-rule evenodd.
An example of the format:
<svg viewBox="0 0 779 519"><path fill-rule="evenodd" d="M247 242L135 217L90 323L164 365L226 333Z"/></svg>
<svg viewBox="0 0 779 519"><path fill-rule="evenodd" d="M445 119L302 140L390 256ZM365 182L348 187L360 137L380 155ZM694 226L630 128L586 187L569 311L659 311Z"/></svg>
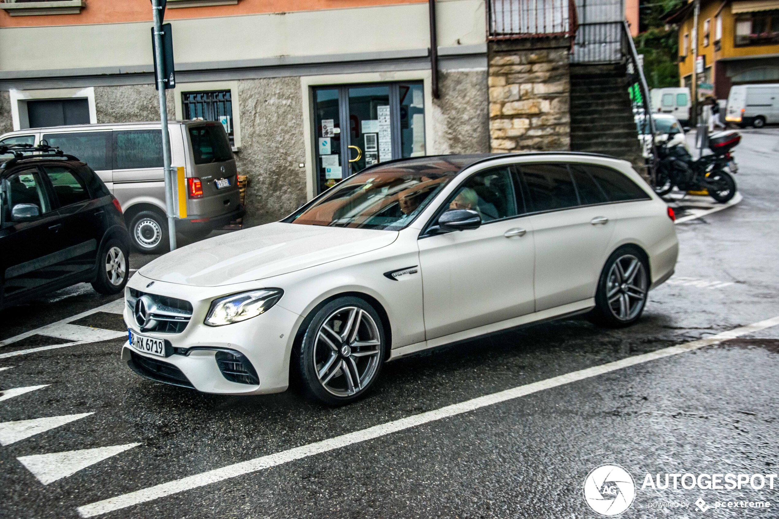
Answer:
<svg viewBox="0 0 779 519"><path fill-rule="evenodd" d="M570 149L567 38L489 44L493 153Z"/></svg>

